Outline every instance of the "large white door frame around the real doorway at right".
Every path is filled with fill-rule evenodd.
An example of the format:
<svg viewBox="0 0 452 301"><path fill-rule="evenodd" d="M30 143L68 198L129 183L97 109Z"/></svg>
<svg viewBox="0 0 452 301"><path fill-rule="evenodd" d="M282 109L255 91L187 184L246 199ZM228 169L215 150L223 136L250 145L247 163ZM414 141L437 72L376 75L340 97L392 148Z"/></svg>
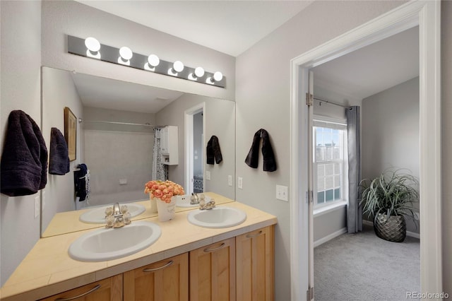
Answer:
<svg viewBox="0 0 452 301"><path fill-rule="evenodd" d="M410 1L291 60L290 261L292 300L307 300L308 71L419 25L420 32L420 262L422 293L441 293L440 1ZM428 200L428 201L427 201ZM428 205L428 206L427 206ZM420 292L421 293L421 292Z"/></svg>

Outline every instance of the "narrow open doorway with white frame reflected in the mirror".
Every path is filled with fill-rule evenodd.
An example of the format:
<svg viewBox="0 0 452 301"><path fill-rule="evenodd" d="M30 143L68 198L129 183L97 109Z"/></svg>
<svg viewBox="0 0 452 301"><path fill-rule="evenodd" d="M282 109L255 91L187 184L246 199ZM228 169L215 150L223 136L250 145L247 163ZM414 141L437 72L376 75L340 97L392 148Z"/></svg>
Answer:
<svg viewBox="0 0 452 301"><path fill-rule="evenodd" d="M185 192L204 191L204 102L185 111Z"/></svg>

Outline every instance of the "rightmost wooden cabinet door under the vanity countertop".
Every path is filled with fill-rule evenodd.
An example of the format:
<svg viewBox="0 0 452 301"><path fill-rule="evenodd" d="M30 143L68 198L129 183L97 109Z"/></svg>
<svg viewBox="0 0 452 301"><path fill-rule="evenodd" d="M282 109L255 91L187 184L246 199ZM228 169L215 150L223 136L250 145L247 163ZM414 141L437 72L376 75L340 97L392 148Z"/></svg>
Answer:
<svg viewBox="0 0 452 301"><path fill-rule="evenodd" d="M236 237L237 301L274 300L274 228Z"/></svg>

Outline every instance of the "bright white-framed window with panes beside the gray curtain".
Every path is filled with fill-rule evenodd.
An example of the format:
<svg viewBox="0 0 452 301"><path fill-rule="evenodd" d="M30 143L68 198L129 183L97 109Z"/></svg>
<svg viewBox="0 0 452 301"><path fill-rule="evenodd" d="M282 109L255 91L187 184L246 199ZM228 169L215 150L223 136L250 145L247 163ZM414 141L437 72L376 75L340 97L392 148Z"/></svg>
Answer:
<svg viewBox="0 0 452 301"><path fill-rule="evenodd" d="M314 208L347 200L347 125L314 119Z"/></svg>

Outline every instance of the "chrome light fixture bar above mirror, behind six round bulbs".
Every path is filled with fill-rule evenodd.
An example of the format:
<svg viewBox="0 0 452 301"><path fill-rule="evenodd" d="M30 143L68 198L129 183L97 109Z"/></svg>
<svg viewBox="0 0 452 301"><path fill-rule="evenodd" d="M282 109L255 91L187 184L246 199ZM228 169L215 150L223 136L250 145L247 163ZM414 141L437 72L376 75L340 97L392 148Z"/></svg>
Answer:
<svg viewBox="0 0 452 301"><path fill-rule="evenodd" d="M97 45L98 46L98 45ZM135 69L140 69L147 72L159 73L165 76L173 76L176 78L186 79L187 81L194 81L196 83L204 83L206 85L214 85L216 87L225 88L226 78L222 78L218 81L214 81L215 73L205 71L203 76L192 76L196 68L184 66L184 69L179 72L175 72L173 69L173 62L164 61L160 59L157 66L149 66L148 56L132 52L132 57L128 61L119 60L119 48L111 47L108 45L100 44L100 49L97 53L90 54L90 50L85 45L85 39L80 37L73 37L68 35L68 52L71 54L80 55L82 57L88 57L90 59L97 59L100 61L107 61L112 64L118 64L121 66L128 66ZM90 54L90 55L88 55ZM119 62L121 61L121 63ZM169 72L171 71L171 72ZM217 77L218 78L218 77Z"/></svg>

